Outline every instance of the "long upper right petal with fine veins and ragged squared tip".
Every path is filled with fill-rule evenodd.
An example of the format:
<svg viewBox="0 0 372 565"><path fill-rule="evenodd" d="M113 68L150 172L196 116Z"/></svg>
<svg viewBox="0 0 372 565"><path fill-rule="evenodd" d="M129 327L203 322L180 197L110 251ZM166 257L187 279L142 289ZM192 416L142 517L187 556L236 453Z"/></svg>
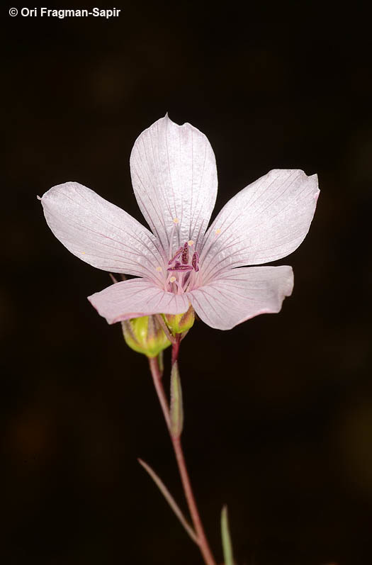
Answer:
<svg viewBox="0 0 372 565"><path fill-rule="evenodd" d="M201 263L208 281L231 267L261 264L293 252L308 233L317 175L274 169L222 208L205 234Z"/></svg>

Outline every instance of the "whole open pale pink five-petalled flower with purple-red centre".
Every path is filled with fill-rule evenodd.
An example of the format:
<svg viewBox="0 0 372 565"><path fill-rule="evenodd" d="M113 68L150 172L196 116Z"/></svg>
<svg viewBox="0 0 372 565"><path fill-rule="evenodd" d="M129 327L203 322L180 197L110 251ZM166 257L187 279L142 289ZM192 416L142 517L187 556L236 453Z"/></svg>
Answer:
<svg viewBox="0 0 372 565"><path fill-rule="evenodd" d="M292 268L257 265L286 257L303 241L317 175L274 169L231 198L208 228L217 195L212 147L201 131L167 115L135 141L130 171L152 231L77 182L41 198L47 224L70 252L98 269L138 277L89 296L108 323L183 314L191 305L212 328L229 330L280 311L293 289Z"/></svg>

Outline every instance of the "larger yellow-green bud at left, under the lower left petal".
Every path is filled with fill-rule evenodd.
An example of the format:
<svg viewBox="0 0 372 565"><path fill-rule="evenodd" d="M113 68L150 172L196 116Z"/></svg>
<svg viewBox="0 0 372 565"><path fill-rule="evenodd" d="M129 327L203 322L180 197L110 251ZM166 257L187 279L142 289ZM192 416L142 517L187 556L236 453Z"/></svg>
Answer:
<svg viewBox="0 0 372 565"><path fill-rule="evenodd" d="M121 326L127 345L147 357L157 357L163 349L171 345L153 315L123 320Z"/></svg>

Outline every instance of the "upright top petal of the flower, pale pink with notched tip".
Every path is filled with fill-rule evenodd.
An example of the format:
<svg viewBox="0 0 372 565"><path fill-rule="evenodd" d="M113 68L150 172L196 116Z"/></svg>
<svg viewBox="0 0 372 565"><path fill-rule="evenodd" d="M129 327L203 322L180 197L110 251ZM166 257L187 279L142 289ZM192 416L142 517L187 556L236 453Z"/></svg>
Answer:
<svg viewBox="0 0 372 565"><path fill-rule="evenodd" d="M147 128L135 141L130 171L138 206L164 250L200 240L217 195L217 169L210 142L189 123L168 116Z"/></svg>

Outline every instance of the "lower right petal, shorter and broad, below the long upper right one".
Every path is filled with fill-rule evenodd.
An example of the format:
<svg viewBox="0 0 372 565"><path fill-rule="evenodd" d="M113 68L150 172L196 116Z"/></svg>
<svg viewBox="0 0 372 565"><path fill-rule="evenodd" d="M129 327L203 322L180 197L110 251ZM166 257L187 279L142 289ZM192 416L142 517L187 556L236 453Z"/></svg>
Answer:
<svg viewBox="0 0 372 565"><path fill-rule="evenodd" d="M243 267L230 269L187 296L203 322L231 330L259 314L279 312L292 290L292 267Z"/></svg>

